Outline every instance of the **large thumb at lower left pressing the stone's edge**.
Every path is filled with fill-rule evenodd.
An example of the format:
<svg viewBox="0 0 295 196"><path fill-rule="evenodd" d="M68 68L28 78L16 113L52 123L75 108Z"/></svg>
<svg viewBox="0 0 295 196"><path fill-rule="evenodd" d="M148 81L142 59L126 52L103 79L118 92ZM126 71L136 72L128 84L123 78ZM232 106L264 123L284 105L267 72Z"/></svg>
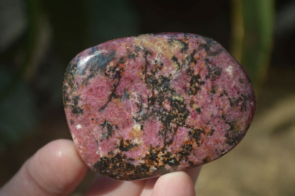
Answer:
<svg viewBox="0 0 295 196"><path fill-rule="evenodd" d="M73 141L55 140L39 149L14 177L0 189L0 195L62 196L80 183L87 166Z"/></svg>

